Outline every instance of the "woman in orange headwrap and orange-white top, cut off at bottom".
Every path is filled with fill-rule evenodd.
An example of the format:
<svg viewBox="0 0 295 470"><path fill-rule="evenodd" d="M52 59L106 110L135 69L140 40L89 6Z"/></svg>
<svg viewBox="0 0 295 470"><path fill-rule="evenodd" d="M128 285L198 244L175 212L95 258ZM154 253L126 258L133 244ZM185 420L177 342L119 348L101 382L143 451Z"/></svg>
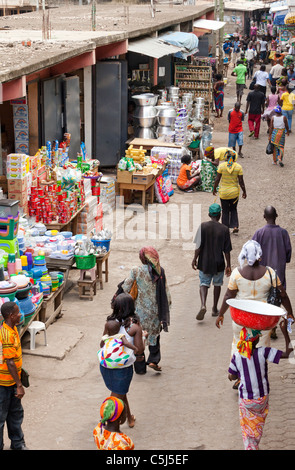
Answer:
<svg viewBox="0 0 295 470"><path fill-rule="evenodd" d="M101 420L93 430L98 450L133 450L132 439L120 431L126 420L124 402L116 397L106 398L100 407Z"/></svg>

